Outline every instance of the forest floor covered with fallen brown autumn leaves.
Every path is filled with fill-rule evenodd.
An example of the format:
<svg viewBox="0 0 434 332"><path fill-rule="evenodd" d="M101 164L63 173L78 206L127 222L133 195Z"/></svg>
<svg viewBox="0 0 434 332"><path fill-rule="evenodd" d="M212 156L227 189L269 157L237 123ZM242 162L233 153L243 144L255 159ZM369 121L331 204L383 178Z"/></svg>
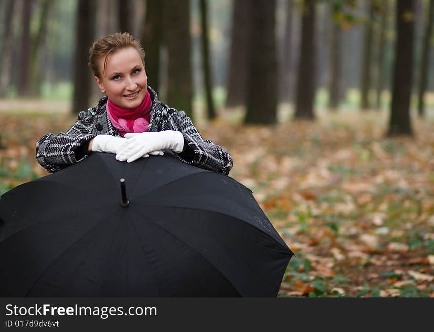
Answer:
<svg viewBox="0 0 434 332"><path fill-rule="evenodd" d="M47 174L36 140L74 118L0 110L0 121L3 193ZM279 296L434 297L434 123L390 139L385 122L373 111L275 126L198 121L296 255Z"/></svg>

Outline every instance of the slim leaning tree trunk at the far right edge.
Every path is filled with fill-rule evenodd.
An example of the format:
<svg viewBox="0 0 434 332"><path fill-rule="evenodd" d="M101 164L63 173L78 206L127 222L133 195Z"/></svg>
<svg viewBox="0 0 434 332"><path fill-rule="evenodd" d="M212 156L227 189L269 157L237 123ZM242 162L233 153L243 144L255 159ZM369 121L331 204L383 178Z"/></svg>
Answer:
<svg viewBox="0 0 434 332"><path fill-rule="evenodd" d="M419 77L419 95L418 95L418 113L420 116L425 116L424 94L428 85L428 73L430 71L428 59L430 56L430 41L433 35L433 19L434 19L434 0L430 0L430 11L428 14L428 23L424 36L424 46L422 50L421 70Z"/></svg>

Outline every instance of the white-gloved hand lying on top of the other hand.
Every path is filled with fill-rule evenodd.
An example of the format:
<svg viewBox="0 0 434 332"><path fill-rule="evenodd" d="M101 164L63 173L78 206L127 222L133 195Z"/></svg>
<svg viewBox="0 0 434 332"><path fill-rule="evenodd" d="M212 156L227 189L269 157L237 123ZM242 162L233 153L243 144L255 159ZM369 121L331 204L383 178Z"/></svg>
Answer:
<svg viewBox="0 0 434 332"><path fill-rule="evenodd" d="M184 137L181 132L165 130L159 132L128 133L125 134L127 142L119 148L116 159L119 161L133 162L153 151L172 149L174 152L182 152Z"/></svg>

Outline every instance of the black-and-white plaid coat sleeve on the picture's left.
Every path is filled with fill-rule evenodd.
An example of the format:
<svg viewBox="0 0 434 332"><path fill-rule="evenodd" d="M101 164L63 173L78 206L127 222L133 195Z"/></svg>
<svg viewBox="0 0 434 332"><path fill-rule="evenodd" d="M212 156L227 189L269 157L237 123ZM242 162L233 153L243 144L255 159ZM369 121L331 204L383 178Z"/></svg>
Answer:
<svg viewBox="0 0 434 332"><path fill-rule="evenodd" d="M77 120L64 133L47 134L36 143L36 161L48 172L56 172L85 159L88 142L96 135L92 134L87 112L80 112ZM86 118L87 117L87 118Z"/></svg>

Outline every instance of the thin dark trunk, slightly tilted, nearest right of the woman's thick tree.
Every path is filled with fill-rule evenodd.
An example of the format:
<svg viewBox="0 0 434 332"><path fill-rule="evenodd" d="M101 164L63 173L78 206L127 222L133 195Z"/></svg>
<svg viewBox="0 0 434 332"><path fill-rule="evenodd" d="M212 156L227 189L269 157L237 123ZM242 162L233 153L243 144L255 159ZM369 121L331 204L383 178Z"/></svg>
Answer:
<svg viewBox="0 0 434 332"><path fill-rule="evenodd" d="M205 93L207 99L208 118L216 117L216 109L213 101L213 85L211 77L210 41L208 37L208 8L207 0L200 0L201 25L202 25L202 64L205 79Z"/></svg>

